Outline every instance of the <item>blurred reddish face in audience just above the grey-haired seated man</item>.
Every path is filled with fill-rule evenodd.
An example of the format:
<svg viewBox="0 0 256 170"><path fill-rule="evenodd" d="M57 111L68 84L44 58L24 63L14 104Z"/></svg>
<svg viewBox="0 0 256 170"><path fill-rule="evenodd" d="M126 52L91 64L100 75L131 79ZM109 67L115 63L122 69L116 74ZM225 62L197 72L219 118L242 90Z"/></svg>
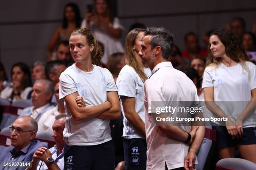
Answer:
<svg viewBox="0 0 256 170"><path fill-rule="evenodd" d="M33 64L32 74L31 74L33 82L35 82L36 80L40 80L40 79L46 79L44 69L45 69L45 62L36 61Z"/></svg>

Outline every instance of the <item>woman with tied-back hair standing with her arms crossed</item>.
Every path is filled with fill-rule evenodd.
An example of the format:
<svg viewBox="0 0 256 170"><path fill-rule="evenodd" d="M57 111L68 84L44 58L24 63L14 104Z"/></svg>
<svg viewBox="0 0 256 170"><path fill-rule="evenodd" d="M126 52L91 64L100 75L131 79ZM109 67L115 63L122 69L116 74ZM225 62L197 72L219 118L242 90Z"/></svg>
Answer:
<svg viewBox="0 0 256 170"><path fill-rule="evenodd" d="M59 87L67 117L63 131L67 144L65 168L114 170L109 119L120 118L120 103L113 76L97 66L102 53L90 30L80 28L72 32L69 46L75 63L61 73ZM76 101L78 95L83 97L85 107Z"/></svg>

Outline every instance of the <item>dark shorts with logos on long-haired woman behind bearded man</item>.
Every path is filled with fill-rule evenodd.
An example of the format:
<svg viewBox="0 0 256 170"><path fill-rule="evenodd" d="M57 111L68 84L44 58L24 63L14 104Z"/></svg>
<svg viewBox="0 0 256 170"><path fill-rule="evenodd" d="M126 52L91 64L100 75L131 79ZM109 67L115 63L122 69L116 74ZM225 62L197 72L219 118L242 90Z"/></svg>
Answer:
<svg viewBox="0 0 256 170"><path fill-rule="evenodd" d="M147 143L145 139L123 139L125 170L146 170Z"/></svg>

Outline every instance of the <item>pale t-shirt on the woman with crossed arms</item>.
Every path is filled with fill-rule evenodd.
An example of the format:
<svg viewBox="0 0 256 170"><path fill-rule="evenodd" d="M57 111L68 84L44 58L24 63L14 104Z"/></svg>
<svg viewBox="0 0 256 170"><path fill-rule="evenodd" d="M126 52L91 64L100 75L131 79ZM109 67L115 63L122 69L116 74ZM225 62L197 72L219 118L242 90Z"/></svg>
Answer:
<svg viewBox="0 0 256 170"><path fill-rule="evenodd" d="M111 73L102 67L93 65L93 70L84 72L75 64L61 73L59 78L59 98L78 92L86 106L100 105L107 101L108 91L118 91ZM111 140L109 120L91 118L74 120L69 108L66 110L66 125L63 138L67 145L98 145Z"/></svg>

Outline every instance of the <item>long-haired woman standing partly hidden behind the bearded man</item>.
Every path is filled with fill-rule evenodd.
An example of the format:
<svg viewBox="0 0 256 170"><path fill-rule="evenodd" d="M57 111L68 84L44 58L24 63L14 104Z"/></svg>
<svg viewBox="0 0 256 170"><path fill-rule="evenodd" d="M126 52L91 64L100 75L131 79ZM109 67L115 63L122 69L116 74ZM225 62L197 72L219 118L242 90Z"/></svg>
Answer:
<svg viewBox="0 0 256 170"><path fill-rule="evenodd" d="M125 39L125 66L116 84L122 101L123 147L125 170L146 169L146 132L144 110L144 82L151 71L144 68L141 57L141 39L145 29L131 30Z"/></svg>

